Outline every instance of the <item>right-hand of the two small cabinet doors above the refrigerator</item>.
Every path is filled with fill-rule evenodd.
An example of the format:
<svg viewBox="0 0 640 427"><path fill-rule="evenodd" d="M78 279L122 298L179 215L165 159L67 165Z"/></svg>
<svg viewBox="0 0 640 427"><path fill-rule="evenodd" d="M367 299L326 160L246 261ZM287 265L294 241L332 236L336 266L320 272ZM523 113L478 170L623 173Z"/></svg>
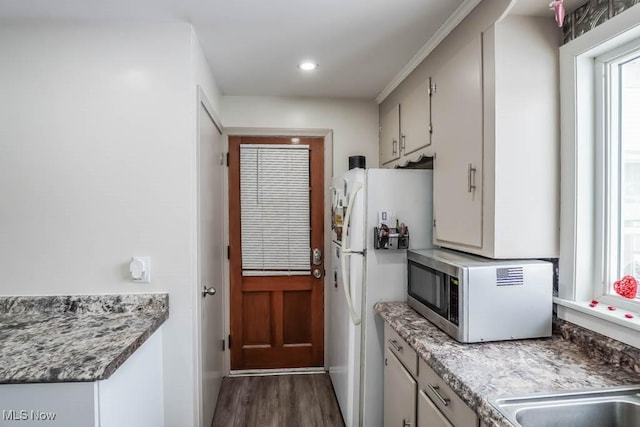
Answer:
<svg viewBox="0 0 640 427"><path fill-rule="evenodd" d="M431 144L429 124L429 80L417 87L400 105L400 148L402 155Z"/></svg>

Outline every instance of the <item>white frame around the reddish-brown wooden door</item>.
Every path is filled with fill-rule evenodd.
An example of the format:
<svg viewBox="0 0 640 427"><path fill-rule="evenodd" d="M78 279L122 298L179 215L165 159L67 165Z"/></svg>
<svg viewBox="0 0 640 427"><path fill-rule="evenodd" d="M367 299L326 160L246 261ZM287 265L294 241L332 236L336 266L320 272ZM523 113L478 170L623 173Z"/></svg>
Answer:
<svg viewBox="0 0 640 427"><path fill-rule="evenodd" d="M327 256L328 251L331 250L331 218L329 211L331 209L331 192L327 189L331 185L331 178L333 177L333 130L332 129L299 129L299 128L252 128L252 127L230 127L224 129L223 143L225 152L229 152L229 136L308 136L308 137L320 137L324 138L324 203L323 203L323 216L324 216L324 242L323 242L323 255L324 255L324 268L325 271L332 271L331 257ZM229 168L225 173L224 179L224 242L225 245L229 245ZM229 260L224 263L224 319L225 319L225 335L228 337L231 333L231 289L230 289L230 277L229 277ZM327 289L330 275L325 274L323 278L323 286ZM327 305L328 292L324 293L324 305ZM327 368L327 310L324 310L324 368ZM227 342L228 344L228 342ZM232 343L233 344L233 343ZM231 371L231 352L226 351L224 355L224 374L229 375Z"/></svg>

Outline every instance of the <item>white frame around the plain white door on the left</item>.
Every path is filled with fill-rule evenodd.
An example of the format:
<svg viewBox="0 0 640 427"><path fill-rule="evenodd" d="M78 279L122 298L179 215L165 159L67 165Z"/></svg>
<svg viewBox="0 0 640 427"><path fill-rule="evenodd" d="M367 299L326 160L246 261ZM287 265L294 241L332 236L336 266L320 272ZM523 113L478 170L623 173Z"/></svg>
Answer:
<svg viewBox="0 0 640 427"><path fill-rule="evenodd" d="M197 102L196 102L196 110L195 110L195 115L196 115L196 120L195 120L195 154L196 157L194 159L195 161L195 182L196 182L196 194L195 194L195 208L196 208L196 224L195 224L195 231L196 231L196 235L195 235L195 254L196 254L196 259L194 260L195 263L195 267L196 267L196 283L195 283L195 289L192 289L192 297L194 298L193 301L193 324L194 324L194 365L195 365L195 383L194 383L194 387L195 387L195 396L196 396L196 401L195 401L195 421L196 421L196 425L198 426L203 426L203 422L204 420L202 419L202 408L203 408L203 394L202 394L202 376L203 376L203 368L202 368L202 346L200 343L200 337L201 337L201 319L202 319L202 294L201 294L201 286L202 286L202 265L200 263L200 253L199 253L199 247L200 247L200 197L199 197L199 189L200 189L200 165L199 165L199 160L200 160L200 107L203 107L205 109L205 111L207 112L207 114L209 115L209 117L211 118L211 120L213 121L214 126L218 129L218 131L220 132L220 138L221 138L221 149L222 152L226 152L227 151L227 140L225 137L225 133L224 133L224 127L222 125L222 121L220 120L220 118L218 117L218 115L216 114L215 110L213 109L213 106L211 105L211 103L209 102L209 99L207 98L207 95L205 94L204 90L202 90L202 88L198 85L197 86ZM221 159L222 160L222 159ZM224 166L223 166L224 167ZM227 178L227 174L223 172L223 187L222 187L222 192L223 195L225 193L226 190L226 183L224 182ZM224 202L223 202L224 203ZM223 204L222 206L223 210L228 210L228 207L226 205ZM228 241L225 233L226 233L226 226L228 225L228 223L226 223L226 213L223 211L223 227L225 228L223 230L223 242L221 242L223 245L225 244L225 242ZM225 277L226 277L226 272L225 270L227 269L227 264L223 262L223 266L222 266L222 280L224 282ZM222 288L225 288L224 283L220 284L220 286ZM223 290L223 296L225 295L225 292ZM223 319L226 318L226 312L224 312L227 309L226 305L222 304L222 317ZM226 332L226 328L224 328L223 326L223 336L225 335ZM226 356L226 355L225 355ZM222 372L223 375L225 375L226 371L226 360L225 357L223 356L223 366L222 366ZM208 426L203 426L203 427L208 427Z"/></svg>

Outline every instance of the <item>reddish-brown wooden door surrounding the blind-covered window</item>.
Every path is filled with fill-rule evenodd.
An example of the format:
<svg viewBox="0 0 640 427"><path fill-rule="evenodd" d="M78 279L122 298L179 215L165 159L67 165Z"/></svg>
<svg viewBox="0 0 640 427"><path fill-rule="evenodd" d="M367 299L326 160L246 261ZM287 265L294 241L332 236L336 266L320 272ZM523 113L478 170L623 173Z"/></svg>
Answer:
<svg viewBox="0 0 640 427"><path fill-rule="evenodd" d="M240 146L307 145L311 249L324 252L324 141L322 138L229 138L231 369L324 366L324 253L303 275L243 275ZM276 171L277 173L277 171ZM286 235L269 238L287 239Z"/></svg>

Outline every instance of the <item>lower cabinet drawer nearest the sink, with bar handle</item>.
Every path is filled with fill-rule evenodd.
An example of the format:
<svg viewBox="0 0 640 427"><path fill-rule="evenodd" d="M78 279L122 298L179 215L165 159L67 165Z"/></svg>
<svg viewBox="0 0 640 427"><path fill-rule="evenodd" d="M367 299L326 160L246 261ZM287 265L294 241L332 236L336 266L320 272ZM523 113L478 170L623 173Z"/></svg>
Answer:
<svg viewBox="0 0 640 427"><path fill-rule="evenodd" d="M420 359L419 386L436 407L456 427L478 427L478 416Z"/></svg>

